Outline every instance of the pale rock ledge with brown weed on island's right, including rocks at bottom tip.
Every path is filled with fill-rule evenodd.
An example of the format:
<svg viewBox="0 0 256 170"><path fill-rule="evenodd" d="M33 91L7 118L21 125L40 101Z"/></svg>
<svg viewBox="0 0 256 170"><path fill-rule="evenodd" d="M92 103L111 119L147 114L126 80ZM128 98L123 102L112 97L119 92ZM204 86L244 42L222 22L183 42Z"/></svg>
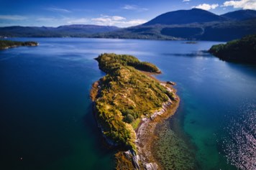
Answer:
<svg viewBox="0 0 256 170"><path fill-rule="evenodd" d="M161 85L166 85L161 83ZM167 88L165 86L165 88ZM168 90L173 91L171 88ZM157 160L155 160L154 155L152 154L152 143L154 142L155 136L155 127L157 123L163 121L163 119L170 117L175 113L175 110L178 108L179 98L175 95L175 103L172 100L163 103L163 106L160 110L153 113L150 118L142 118L139 128L137 128L137 150L138 153L134 154L131 151L124 152L124 155L127 159L132 160L134 169L145 169L145 170L157 170L161 169ZM161 116L164 115L164 116Z"/></svg>

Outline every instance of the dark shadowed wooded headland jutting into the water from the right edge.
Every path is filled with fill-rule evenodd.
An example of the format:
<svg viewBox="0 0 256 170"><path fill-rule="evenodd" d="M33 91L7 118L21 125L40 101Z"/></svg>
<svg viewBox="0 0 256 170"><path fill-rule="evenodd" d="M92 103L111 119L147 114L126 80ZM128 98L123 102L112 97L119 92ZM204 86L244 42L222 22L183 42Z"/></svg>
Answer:
<svg viewBox="0 0 256 170"><path fill-rule="evenodd" d="M209 52L224 61L256 64L256 34L214 45Z"/></svg>

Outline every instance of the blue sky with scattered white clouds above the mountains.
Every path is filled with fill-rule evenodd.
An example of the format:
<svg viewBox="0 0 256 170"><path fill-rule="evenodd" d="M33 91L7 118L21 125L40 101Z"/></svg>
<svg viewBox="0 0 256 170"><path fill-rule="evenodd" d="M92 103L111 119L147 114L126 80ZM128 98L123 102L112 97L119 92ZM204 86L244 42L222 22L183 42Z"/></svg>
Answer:
<svg viewBox="0 0 256 170"><path fill-rule="evenodd" d="M192 8L224 14L239 9L256 10L256 0L0 0L0 27L131 27L168 11Z"/></svg>

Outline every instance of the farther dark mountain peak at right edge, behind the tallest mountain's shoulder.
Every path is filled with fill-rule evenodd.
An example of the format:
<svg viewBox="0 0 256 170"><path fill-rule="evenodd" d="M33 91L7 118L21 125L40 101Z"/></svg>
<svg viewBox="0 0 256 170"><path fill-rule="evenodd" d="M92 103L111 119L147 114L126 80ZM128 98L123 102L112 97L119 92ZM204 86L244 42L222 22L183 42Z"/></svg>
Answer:
<svg viewBox="0 0 256 170"><path fill-rule="evenodd" d="M238 10L238 11L231 11L226 14L222 14L221 16L224 16L228 19L244 20L244 19L256 18L256 11L250 10L250 9Z"/></svg>

